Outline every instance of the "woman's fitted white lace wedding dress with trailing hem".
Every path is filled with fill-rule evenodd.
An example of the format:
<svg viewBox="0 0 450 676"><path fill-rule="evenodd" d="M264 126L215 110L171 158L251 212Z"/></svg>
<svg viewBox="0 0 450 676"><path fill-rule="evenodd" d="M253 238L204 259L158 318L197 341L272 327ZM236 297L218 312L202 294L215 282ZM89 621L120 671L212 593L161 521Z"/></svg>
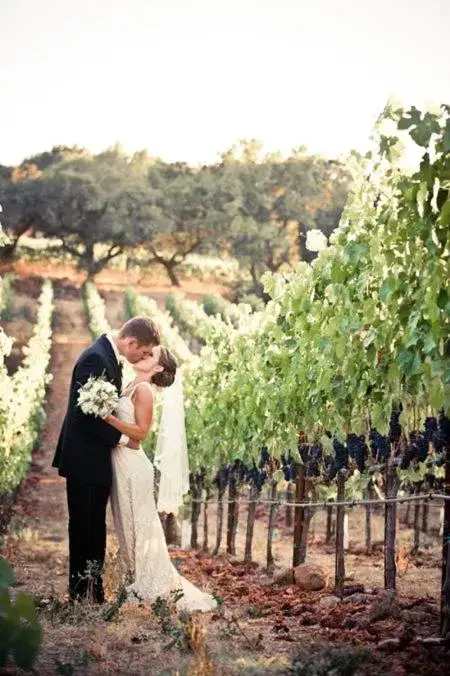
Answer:
<svg viewBox="0 0 450 676"><path fill-rule="evenodd" d="M116 408L116 416L132 424L135 423L133 392L121 397ZM156 510L154 469L144 451L119 445L112 451L112 465L114 526L121 556L133 579L127 587L129 599L153 603L158 597L168 598L173 592L180 591L177 595L182 593L177 601L180 609L208 611L216 608L215 599L182 577L170 560Z"/></svg>

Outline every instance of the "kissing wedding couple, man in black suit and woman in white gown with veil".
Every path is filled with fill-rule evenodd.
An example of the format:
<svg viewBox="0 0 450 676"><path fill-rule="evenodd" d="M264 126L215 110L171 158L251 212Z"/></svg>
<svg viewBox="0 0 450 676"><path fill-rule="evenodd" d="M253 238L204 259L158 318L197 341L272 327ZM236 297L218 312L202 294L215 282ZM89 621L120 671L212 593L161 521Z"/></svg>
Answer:
<svg viewBox="0 0 450 676"><path fill-rule="evenodd" d="M135 377L122 389L123 360ZM78 406L90 378L113 383L120 397L114 415L86 415ZM175 594L179 609L213 610L217 603L182 577L172 564L154 498L154 467L140 447L152 425L156 388L164 390L158 436L164 511L179 488L187 463L179 451L184 438L182 385L177 363L160 345L157 325L134 317L117 335L105 334L88 347L73 369L69 403L53 466L66 478L69 511L69 596L104 602L102 569L106 549L106 506L111 497L120 555L131 584L130 603L153 603ZM173 394L172 394L173 393ZM172 406L167 395L172 394ZM173 443L171 442L171 439ZM157 454L158 454L157 449ZM173 503L173 500L172 500ZM158 500L161 507L161 500ZM176 509L176 508L175 508ZM160 509L163 511L163 509ZM173 510L172 510L173 511Z"/></svg>

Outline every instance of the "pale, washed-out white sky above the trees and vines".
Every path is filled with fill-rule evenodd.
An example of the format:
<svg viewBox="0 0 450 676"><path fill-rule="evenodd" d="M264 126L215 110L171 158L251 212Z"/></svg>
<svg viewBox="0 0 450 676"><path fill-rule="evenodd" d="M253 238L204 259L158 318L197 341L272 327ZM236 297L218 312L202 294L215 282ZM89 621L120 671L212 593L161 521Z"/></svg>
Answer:
<svg viewBox="0 0 450 676"><path fill-rule="evenodd" d="M0 163L362 150L388 96L450 103L449 35L450 0L0 0Z"/></svg>

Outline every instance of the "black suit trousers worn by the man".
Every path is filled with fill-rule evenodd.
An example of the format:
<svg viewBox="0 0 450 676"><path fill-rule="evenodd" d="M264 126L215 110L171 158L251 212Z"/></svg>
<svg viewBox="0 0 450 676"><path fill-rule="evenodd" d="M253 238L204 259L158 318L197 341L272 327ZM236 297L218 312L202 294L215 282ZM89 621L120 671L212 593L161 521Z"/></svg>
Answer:
<svg viewBox="0 0 450 676"><path fill-rule="evenodd" d="M106 549L109 486L93 486L67 477L69 508L69 595L103 603L102 569Z"/></svg>

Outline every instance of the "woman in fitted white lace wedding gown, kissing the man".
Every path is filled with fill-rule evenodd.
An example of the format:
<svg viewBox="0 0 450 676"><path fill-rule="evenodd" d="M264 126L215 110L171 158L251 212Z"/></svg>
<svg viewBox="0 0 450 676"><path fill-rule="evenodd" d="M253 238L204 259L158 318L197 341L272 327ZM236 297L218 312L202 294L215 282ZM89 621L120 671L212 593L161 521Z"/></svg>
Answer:
<svg viewBox="0 0 450 676"><path fill-rule="evenodd" d="M136 441L143 441L153 421L153 386L173 384L177 364L164 347L153 348L147 359L133 364L136 377L125 388L105 422ZM133 583L127 587L132 601L153 603L176 593L179 609L213 610L217 602L182 577L172 564L154 499L154 468L142 448L119 444L112 451L111 507L122 559ZM178 593L179 592L179 593Z"/></svg>

